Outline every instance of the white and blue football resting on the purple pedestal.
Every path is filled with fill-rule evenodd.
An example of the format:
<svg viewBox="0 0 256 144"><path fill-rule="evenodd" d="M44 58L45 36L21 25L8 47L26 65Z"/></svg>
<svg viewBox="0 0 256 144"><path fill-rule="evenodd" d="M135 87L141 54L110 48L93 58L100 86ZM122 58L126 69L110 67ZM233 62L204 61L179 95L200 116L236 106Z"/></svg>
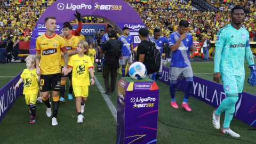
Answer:
<svg viewBox="0 0 256 144"><path fill-rule="evenodd" d="M129 67L129 74L133 79L142 79L147 75L147 68L141 62L134 62Z"/></svg>

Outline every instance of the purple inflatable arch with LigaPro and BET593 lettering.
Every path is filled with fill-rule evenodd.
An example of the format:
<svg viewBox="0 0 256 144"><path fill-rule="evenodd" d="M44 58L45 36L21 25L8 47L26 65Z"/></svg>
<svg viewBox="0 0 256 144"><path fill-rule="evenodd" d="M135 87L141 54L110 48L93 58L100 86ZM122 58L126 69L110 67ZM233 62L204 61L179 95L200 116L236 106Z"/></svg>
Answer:
<svg viewBox="0 0 256 144"><path fill-rule="evenodd" d="M145 27L139 14L126 2L122 0L92 0L92 1L69 1L58 0L53 3L38 19L33 34L31 36L29 54L35 54L36 38L45 33L44 19L46 17L55 17L57 28L55 33L59 34L63 23L76 19L74 14L78 11L82 16L103 17L112 22L115 28L130 28L130 35L133 38L134 48L140 43L138 30Z"/></svg>

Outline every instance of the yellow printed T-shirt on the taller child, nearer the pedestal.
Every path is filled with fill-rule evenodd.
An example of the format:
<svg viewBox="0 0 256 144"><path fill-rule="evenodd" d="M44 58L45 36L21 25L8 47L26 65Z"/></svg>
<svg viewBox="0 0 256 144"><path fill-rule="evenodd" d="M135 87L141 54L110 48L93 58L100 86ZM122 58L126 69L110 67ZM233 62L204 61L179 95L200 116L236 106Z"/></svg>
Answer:
<svg viewBox="0 0 256 144"><path fill-rule="evenodd" d="M68 67L73 68L72 85L87 86L90 85L89 68L93 68L91 58L84 54L84 57L79 57L78 54L73 55L68 61Z"/></svg>

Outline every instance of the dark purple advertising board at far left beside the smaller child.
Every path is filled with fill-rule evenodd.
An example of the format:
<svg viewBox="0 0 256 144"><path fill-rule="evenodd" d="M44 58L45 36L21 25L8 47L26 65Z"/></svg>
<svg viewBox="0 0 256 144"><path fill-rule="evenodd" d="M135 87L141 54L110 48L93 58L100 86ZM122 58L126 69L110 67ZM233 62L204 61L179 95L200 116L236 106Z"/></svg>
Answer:
<svg viewBox="0 0 256 144"><path fill-rule="evenodd" d="M23 93L24 83L21 83L20 86L14 90L14 86L19 81L21 73L0 89L0 122L7 111L12 107L13 103L18 99L19 95Z"/></svg>

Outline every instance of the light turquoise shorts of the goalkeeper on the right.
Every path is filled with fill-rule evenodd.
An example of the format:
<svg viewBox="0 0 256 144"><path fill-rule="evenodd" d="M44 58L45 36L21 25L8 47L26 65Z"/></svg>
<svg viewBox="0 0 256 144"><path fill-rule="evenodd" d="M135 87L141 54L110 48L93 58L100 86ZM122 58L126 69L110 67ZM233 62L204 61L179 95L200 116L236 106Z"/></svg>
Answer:
<svg viewBox="0 0 256 144"><path fill-rule="evenodd" d="M245 76L223 75L221 80L223 82L223 89L226 94L242 93L244 88Z"/></svg>

